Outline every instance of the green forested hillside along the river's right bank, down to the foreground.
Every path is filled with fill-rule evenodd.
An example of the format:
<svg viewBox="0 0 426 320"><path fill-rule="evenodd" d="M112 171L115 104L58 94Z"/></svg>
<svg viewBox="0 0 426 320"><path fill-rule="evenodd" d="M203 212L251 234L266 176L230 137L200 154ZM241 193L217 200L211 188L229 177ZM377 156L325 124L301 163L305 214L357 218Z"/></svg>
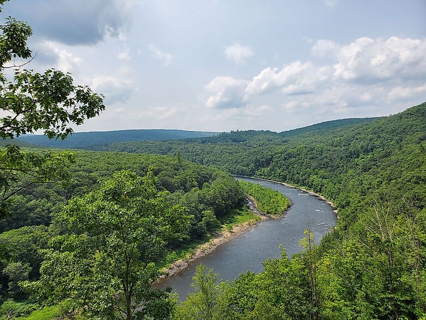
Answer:
<svg viewBox="0 0 426 320"><path fill-rule="evenodd" d="M231 284L230 290L247 286L229 310L257 319L291 318L291 305L299 306L300 318L421 318L426 315L424 119L426 103L366 123L287 137L232 132L110 148L179 152L233 174L307 187L338 206L337 227L319 247L308 245L307 258L272 262L276 274L242 276ZM293 277L299 272L303 277ZM281 286L262 292L270 279ZM289 287L294 294L302 290L291 304L282 291ZM239 299L244 305L237 305Z"/></svg>

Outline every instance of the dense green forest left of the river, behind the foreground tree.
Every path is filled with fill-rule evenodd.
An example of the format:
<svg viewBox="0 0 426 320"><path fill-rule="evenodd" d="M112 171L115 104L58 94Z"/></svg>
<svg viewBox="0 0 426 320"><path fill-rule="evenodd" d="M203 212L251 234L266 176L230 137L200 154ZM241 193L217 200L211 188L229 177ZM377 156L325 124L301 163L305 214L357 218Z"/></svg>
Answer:
<svg viewBox="0 0 426 320"><path fill-rule="evenodd" d="M186 206L190 216L188 238L170 238L166 244L167 252L220 228L218 219L232 215L245 199L238 183L229 175L217 169L193 164L172 156L88 152L77 151L76 162L70 168L71 179L68 185L62 183L37 184L29 186L11 197L11 209L15 212L0 223L0 246L7 245L13 254L14 262L29 263L29 280L37 280L43 255L52 236L70 233L68 224L61 214L70 198L84 197L97 191L102 181L111 178L111 172L128 168L138 176L145 176L149 167L154 166L155 186L164 193L170 206ZM13 263L13 262L8 262ZM1 266L3 271L8 263ZM9 274L0 272L2 298L12 297L9 285L14 280ZM15 278L14 278L15 279ZM28 295L20 292L14 295L18 301Z"/></svg>

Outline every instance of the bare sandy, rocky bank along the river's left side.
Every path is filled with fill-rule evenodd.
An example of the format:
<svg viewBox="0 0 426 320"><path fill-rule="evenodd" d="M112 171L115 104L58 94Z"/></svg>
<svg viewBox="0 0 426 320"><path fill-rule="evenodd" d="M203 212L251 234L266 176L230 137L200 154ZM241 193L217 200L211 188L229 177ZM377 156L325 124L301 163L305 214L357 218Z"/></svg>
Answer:
<svg viewBox="0 0 426 320"><path fill-rule="evenodd" d="M203 243L201 245L199 245L193 254L191 254L190 257L185 258L185 259L179 259L176 260L174 262L171 263L171 265L168 268L165 268L162 270L162 272L165 275L160 276L160 280L158 282L161 282L161 279L166 278L167 276L172 276L182 270L185 270L188 268L188 266L190 264L192 264L193 262L195 262L197 259L201 258L202 256L205 256L206 254L212 253L214 250L216 250L216 248L218 246L220 246L221 244L234 239L238 236L240 236L241 234L249 231L250 229L252 229L254 226L256 226L258 223L262 222L262 221L267 221L267 220L271 220L271 219L279 219L282 218L282 216L285 214L285 212L287 210L289 210L289 208L292 205L292 201L290 200L290 205L287 207L287 209L285 211L283 211L281 213L281 215L270 215L267 214L265 212L262 212L261 210L259 210L256 200L252 197L252 196L248 196L247 197L247 203L246 206L256 215L260 218L259 221L253 222L253 221L248 221L245 222L241 225L237 225L234 226L232 228L232 230L221 230L220 232L217 233L217 235L210 239L209 242Z"/></svg>

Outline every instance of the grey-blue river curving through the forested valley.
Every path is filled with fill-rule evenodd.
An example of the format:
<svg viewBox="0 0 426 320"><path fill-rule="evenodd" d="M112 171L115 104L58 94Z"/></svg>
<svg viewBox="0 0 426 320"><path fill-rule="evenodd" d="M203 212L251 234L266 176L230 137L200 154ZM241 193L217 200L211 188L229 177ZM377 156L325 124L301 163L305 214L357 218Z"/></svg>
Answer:
<svg viewBox="0 0 426 320"><path fill-rule="evenodd" d="M307 228L308 220L317 243L336 225L337 217L331 205L315 195L276 182L254 178L236 179L278 190L293 205L283 218L259 223L246 233L220 245L212 253L200 257L189 269L163 281L161 286L172 287L173 292L178 293L179 300L184 300L193 292L192 277L199 263L212 268L222 280L233 280L248 270L260 273L264 270L262 261L280 256L280 244L286 248L289 256L301 251L299 240L304 236L303 230Z"/></svg>

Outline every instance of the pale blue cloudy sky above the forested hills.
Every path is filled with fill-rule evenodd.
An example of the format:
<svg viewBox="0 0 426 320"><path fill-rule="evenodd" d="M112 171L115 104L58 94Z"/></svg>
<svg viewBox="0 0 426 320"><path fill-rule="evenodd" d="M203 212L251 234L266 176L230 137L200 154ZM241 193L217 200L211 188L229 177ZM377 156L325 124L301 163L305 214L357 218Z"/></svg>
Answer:
<svg viewBox="0 0 426 320"><path fill-rule="evenodd" d="M426 0L13 0L26 66L106 110L75 131L284 131L426 101Z"/></svg>

